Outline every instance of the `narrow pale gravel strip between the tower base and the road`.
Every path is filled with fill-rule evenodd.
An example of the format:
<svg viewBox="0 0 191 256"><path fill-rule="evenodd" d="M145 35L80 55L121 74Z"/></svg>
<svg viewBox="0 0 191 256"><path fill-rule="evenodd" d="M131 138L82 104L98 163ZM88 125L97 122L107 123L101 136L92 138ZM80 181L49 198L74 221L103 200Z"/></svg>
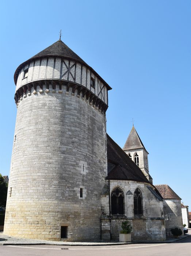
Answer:
<svg viewBox="0 0 191 256"><path fill-rule="evenodd" d="M189 235L186 235L182 238L175 238L168 241L161 241L163 243L166 242L175 242L180 239L184 239ZM160 243L159 241L150 241L152 243ZM12 237L5 236L3 231L0 231L0 245L4 244L54 244L54 245L113 245L113 244L138 244L145 243L148 244L149 241L139 241L139 242L129 242L123 243L119 241L111 241L111 242L103 242L103 241L92 241L92 242L64 242L64 241L48 241L48 240L38 240L38 239L30 239L30 238L21 238L21 237Z"/></svg>

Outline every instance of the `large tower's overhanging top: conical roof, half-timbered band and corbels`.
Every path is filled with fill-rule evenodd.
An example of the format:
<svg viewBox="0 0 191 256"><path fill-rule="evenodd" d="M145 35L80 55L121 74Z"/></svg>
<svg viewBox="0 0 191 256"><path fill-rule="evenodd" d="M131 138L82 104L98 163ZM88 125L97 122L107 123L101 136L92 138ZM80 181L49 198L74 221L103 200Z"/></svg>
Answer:
<svg viewBox="0 0 191 256"><path fill-rule="evenodd" d="M102 110L108 107L108 90L111 87L64 42L58 40L42 52L22 63L15 71L15 101L23 94L31 93L31 88L49 91L62 90L66 86L72 93L88 99Z"/></svg>

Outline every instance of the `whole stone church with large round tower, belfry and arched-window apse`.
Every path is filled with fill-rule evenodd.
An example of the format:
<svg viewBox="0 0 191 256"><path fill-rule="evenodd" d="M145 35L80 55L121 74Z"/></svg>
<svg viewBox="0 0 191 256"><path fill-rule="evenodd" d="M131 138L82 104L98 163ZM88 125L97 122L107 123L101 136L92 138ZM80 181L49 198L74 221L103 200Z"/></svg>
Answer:
<svg viewBox="0 0 191 256"><path fill-rule="evenodd" d="M134 241L165 240L172 215L148 151L134 126L123 150L106 133L107 82L61 39L20 64L14 80L4 234L118 240L128 219Z"/></svg>

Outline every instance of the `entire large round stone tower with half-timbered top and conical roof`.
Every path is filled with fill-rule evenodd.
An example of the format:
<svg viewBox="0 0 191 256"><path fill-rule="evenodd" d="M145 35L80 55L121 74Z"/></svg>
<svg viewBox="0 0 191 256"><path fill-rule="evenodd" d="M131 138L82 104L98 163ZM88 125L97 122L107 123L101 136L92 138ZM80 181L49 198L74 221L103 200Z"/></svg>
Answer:
<svg viewBox="0 0 191 256"><path fill-rule="evenodd" d="M111 87L61 40L21 64L4 234L100 239Z"/></svg>

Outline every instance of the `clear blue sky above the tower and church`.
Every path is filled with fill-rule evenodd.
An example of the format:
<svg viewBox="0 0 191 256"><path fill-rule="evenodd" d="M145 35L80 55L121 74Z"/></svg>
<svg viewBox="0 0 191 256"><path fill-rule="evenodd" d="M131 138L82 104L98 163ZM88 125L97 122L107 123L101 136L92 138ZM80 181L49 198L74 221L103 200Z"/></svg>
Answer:
<svg viewBox="0 0 191 256"><path fill-rule="evenodd" d="M107 132L123 147L135 128L154 184L190 206L191 1L2 1L0 173L9 175L15 69L59 39L113 88Z"/></svg>

